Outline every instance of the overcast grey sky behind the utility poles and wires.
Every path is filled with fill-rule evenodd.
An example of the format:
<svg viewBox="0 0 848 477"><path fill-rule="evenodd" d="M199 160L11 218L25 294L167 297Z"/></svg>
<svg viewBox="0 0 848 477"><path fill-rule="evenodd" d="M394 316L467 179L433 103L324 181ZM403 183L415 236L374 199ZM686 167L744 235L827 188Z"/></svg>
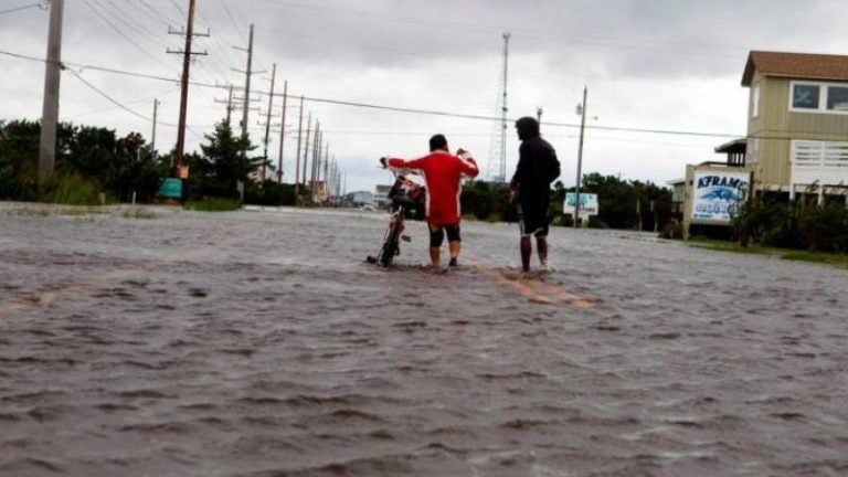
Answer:
<svg viewBox="0 0 848 477"><path fill-rule="evenodd" d="M0 0L0 12L39 3ZM60 119L97 125L125 135L152 127L161 100L157 147L177 137L179 85L105 73L86 66L178 80L182 40L169 26L186 24L188 0L66 0ZM198 0L192 80L241 87L250 24L255 25L256 92L271 88L277 64L294 96L378 106L497 117L502 76L502 33L510 32L509 118L543 109L542 134L563 163L562 180L575 180L580 117L575 106L589 87L584 172L621 174L660 184L683 176L687 163L720 159L713 147L745 134L748 89L740 85L751 50L848 53L848 11L836 0ZM38 7L0 13L0 51L44 57L49 11ZM120 103L116 106L95 92ZM0 54L0 119L38 119L44 64ZM237 92L241 96L241 93ZM267 96L253 107L267 109ZM190 91L188 150L198 148L225 116L223 88ZM284 171L295 169L297 100L289 103ZM128 112L130 109L132 113ZM282 98L275 98L278 116ZM447 136L464 147L484 174L499 144L498 123L307 102L321 123L330 153L347 172L348 191L386 182L375 168L381 156L414 158L427 138ZM251 112L251 136L261 142L259 112ZM140 116L140 117L139 117ZM234 125L241 113L234 114ZM264 120L264 118L263 118ZM279 123L279 118L274 120ZM548 123L548 125L545 125ZM597 128L595 128L597 127ZM698 132L653 134L601 128ZM710 135L727 135L716 137ZM272 135L276 163L279 134ZM261 151L262 147L257 149ZM507 174L517 160L510 123Z"/></svg>

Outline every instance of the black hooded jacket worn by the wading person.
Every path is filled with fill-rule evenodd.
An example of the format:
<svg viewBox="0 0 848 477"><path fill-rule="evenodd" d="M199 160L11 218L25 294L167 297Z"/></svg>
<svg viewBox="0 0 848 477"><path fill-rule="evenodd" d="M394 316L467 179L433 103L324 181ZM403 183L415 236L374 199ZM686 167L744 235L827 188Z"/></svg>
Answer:
<svg viewBox="0 0 848 477"><path fill-rule="evenodd" d="M549 200L551 182L560 177L560 161L556 151L539 136L539 123L531 117L516 121L519 147L518 167L510 181L510 188L518 191L522 203Z"/></svg>

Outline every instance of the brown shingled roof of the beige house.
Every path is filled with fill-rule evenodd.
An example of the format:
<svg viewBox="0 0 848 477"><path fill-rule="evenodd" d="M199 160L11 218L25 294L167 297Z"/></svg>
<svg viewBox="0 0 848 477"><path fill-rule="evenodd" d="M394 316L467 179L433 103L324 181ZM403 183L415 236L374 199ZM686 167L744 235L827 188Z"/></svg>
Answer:
<svg viewBox="0 0 848 477"><path fill-rule="evenodd" d="M751 86L754 71L764 76L848 81L848 56L752 51L742 74L742 86Z"/></svg>

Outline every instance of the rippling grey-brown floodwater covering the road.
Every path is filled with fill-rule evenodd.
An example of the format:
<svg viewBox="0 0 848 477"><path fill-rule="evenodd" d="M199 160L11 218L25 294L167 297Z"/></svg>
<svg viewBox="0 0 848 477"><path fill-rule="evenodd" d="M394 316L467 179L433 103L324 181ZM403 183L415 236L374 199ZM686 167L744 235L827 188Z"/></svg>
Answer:
<svg viewBox="0 0 848 477"><path fill-rule="evenodd" d="M0 204L2 476L844 476L848 273L653 234ZM156 218L145 216L155 213Z"/></svg>

